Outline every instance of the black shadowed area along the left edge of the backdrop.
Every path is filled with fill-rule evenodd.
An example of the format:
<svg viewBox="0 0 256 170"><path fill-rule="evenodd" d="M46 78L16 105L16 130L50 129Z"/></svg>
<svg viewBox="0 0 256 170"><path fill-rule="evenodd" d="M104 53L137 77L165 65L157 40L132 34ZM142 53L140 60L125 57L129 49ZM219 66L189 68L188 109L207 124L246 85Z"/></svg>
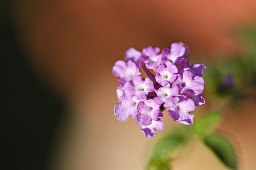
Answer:
<svg viewBox="0 0 256 170"><path fill-rule="evenodd" d="M0 30L4 77L1 81L4 103L0 114L0 169L45 170L64 104L30 68L10 19L10 2L5 3Z"/></svg>

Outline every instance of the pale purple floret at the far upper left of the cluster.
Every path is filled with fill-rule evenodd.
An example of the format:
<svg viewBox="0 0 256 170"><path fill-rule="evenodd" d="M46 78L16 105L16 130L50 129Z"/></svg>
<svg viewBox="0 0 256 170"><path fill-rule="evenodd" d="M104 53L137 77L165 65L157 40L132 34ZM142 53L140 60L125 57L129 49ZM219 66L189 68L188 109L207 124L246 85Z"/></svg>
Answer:
<svg viewBox="0 0 256 170"><path fill-rule="evenodd" d="M132 80L135 76L140 75L140 71L137 68L136 64L131 60L124 62L122 60L116 61L112 68L112 73L114 76L118 76L120 82L128 82Z"/></svg>

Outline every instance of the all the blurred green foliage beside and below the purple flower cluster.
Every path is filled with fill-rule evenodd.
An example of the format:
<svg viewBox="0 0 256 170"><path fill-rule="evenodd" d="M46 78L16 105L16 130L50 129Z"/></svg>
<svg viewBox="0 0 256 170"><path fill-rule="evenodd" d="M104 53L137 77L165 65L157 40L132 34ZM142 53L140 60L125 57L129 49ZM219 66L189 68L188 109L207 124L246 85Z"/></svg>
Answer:
<svg viewBox="0 0 256 170"><path fill-rule="evenodd" d="M242 47L240 55L224 57L218 63L205 63L204 93L209 96L209 103L215 104L211 106L215 110L238 107L243 99L256 100L256 27L241 28L238 35ZM212 111L195 120L193 125L173 129L155 144L146 169L170 170L171 162L188 142L198 139L224 165L237 170L236 150L232 142L214 132L221 119L219 111Z"/></svg>

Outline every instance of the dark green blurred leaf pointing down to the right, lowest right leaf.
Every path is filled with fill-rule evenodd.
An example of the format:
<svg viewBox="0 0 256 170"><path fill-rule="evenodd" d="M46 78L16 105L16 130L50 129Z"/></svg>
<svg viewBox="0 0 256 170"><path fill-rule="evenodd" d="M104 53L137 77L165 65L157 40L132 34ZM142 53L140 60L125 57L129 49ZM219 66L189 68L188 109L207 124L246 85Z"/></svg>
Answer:
<svg viewBox="0 0 256 170"><path fill-rule="evenodd" d="M237 170L236 152L228 139L213 134L204 139L204 144L214 152L222 163L232 170Z"/></svg>

